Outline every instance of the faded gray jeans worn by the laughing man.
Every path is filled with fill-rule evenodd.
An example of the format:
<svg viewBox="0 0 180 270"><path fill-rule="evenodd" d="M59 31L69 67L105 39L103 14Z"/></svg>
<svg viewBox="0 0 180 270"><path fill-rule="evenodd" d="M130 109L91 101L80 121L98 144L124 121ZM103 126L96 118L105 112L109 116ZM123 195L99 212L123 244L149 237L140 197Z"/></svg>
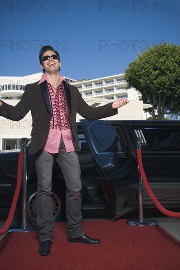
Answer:
<svg viewBox="0 0 180 270"><path fill-rule="evenodd" d="M63 140L60 140L58 154L51 154L41 150L35 155L37 173L37 223L39 226L39 240L53 240L55 219L51 203L52 169L54 159L57 160L66 184L66 216L69 237L84 234L81 224L82 213L82 184L81 170L76 151L66 153Z"/></svg>

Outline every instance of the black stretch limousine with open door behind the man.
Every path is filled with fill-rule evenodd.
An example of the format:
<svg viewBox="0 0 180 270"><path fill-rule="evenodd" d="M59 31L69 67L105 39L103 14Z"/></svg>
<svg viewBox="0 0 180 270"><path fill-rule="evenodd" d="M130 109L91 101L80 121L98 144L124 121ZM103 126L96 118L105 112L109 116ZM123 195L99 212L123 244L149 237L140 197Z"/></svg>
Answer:
<svg viewBox="0 0 180 270"><path fill-rule="evenodd" d="M152 191L165 208L180 210L180 121L81 120L77 123L83 186L82 213L114 218L138 208L137 139L142 140L142 161ZM27 214L36 221L36 172L27 146ZM20 150L0 151L0 208L9 208L17 182ZM73 173L73 172L72 172ZM56 221L65 220L66 187L54 163L52 205ZM143 191L144 208L154 208ZM22 194L18 200L22 212Z"/></svg>

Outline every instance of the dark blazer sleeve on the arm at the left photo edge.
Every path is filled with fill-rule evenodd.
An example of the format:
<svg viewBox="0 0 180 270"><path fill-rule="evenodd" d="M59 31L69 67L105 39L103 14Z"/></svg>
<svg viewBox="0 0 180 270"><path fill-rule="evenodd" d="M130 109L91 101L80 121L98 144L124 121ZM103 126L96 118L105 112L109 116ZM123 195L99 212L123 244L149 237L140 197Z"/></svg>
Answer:
<svg viewBox="0 0 180 270"><path fill-rule="evenodd" d="M21 120L30 110L30 89L28 85L25 87L25 92L16 106L9 105L2 100L1 102L0 116L13 121Z"/></svg>

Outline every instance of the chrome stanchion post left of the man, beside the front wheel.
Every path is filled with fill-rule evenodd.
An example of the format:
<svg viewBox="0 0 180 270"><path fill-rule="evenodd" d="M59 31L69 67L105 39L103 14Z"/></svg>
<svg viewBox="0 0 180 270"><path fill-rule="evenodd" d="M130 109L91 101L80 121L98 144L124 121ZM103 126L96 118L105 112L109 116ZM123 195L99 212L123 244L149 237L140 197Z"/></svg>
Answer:
<svg viewBox="0 0 180 270"><path fill-rule="evenodd" d="M27 223L27 138L22 138L23 164L22 164L22 224L9 228L8 233L28 232L37 230L36 223Z"/></svg>

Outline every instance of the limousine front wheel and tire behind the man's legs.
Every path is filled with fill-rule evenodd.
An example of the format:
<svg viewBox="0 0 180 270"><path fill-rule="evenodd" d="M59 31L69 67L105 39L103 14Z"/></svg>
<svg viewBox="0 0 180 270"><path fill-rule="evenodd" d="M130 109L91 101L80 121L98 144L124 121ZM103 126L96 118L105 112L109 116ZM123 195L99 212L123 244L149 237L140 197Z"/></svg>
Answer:
<svg viewBox="0 0 180 270"><path fill-rule="evenodd" d="M64 185L63 185L64 186ZM59 179L52 184L52 207L55 221L65 221L65 187L61 187ZM32 182L27 187L27 222L36 222L37 184ZM18 212L22 217L22 194L19 198Z"/></svg>

